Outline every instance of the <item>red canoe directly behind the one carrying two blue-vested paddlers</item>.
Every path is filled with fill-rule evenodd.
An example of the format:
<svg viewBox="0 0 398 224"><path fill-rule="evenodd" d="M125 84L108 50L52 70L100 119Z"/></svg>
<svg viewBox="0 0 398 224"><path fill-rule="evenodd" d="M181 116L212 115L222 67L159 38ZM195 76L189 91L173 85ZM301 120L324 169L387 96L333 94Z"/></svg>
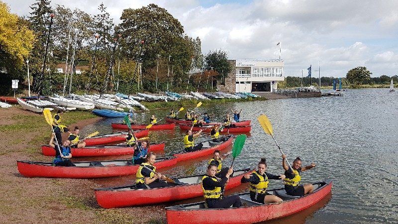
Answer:
<svg viewBox="0 0 398 224"><path fill-rule="evenodd" d="M151 144L148 151L164 150L165 143ZM55 156L55 150L49 145L42 145L41 151L45 156ZM71 148L73 157L112 156L133 154L133 148L125 145L95 145L84 148Z"/></svg>

